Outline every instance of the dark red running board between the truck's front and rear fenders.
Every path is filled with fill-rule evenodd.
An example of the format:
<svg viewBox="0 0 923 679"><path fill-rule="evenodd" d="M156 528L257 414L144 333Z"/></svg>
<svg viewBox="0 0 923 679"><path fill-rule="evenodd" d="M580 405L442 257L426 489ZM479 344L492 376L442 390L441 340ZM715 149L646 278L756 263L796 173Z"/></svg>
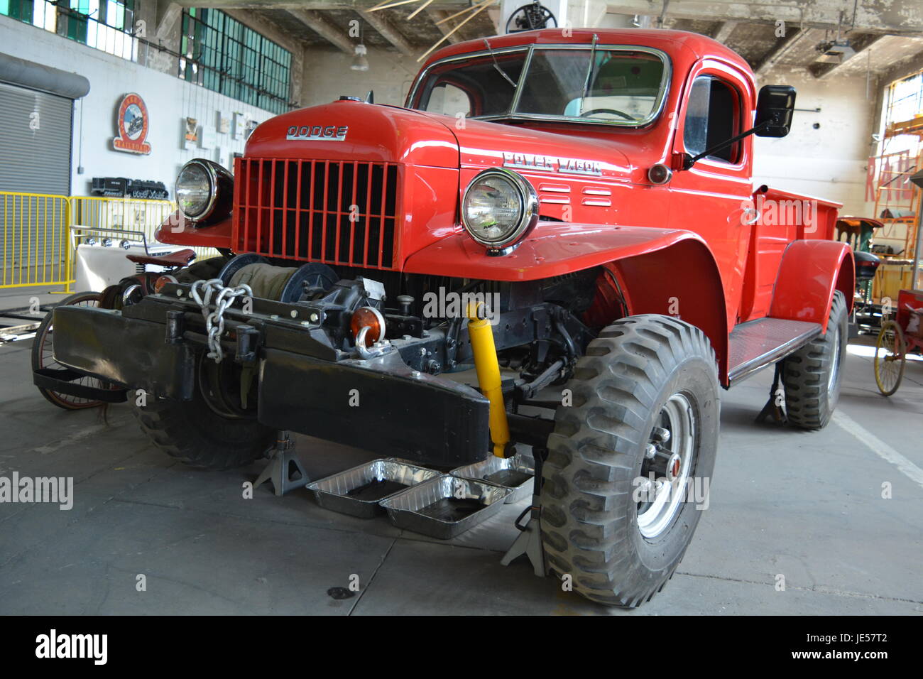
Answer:
<svg viewBox="0 0 923 679"><path fill-rule="evenodd" d="M741 323L727 338L728 386L795 353L819 334L820 323L783 319Z"/></svg>

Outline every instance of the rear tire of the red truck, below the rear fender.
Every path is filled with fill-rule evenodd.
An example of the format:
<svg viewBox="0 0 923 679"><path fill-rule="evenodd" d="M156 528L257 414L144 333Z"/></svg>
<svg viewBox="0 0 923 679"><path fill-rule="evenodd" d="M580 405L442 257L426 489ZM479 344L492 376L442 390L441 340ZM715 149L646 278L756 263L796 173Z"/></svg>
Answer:
<svg viewBox="0 0 923 679"><path fill-rule="evenodd" d="M807 430L823 429L833 416L843 384L846 342L849 336L846 315L846 298L837 290L833 293L827 332L802 346L783 362L785 414L788 421L796 427ZM831 370L836 372L833 386L828 389Z"/></svg>

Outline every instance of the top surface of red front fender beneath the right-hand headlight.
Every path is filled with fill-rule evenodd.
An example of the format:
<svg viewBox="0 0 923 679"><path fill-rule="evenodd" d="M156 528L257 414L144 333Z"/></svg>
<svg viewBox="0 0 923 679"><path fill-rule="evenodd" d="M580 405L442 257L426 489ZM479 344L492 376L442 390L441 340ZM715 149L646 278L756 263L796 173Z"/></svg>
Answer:
<svg viewBox="0 0 923 679"><path fill-rule="evenodd" d="M535 281L648 254L700 236L678 229L539 222L509 255L488 256L484 246L459 232L417 250L405 273L431 273L488 281Z"/></svg>

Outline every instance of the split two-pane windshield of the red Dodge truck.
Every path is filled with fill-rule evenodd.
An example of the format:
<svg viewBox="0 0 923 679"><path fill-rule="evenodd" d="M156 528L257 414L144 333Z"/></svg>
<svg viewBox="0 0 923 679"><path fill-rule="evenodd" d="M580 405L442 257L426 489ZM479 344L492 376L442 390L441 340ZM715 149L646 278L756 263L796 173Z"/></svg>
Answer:
<svg viewBox="0 0 923 679"><path fill-rule="evenodd" d="M629 48L533 48L429 68L414 108L476 118L553 118L637 127L663 101L666 57ZM591 60L591 55L593 56ZM523 68L527 68L521 78Z"/></svg>

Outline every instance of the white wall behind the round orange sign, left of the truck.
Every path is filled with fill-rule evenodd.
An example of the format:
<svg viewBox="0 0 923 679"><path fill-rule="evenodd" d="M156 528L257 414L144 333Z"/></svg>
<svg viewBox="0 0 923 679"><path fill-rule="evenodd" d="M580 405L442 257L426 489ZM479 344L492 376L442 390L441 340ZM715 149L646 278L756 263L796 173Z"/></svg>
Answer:
<svg viewBox="0 0 923 679"><path fill-rule="evenodd" d="M143 51L146 48L142 45L139 49ZM219 161L220 155L217 148L181 148L186 116L197 118L199 126L215 127L218 123L217 111L222 110L232 116L233 132L234 112L249 115L260 122L274 115L188 83L173 74L140 67L131 61L107 55L50 31L6 17L0 17L0 52L75 72L90 80L90 93L78 100L74 110L71 158L73 195L89 195L90 178L94 176L124 176L128 179L162 181L173 198L174 179L182 164L196 157ZM113 149L113 139L117 136L117 108L128 92L137 92L147 104L150 155L117 152ZM217 135L218 148L222 149L223 158L227 158L228 152L243 152L244 143L243 137L233 139L231 134ZM37 160L24 158L23 162L32 163ZM78 175L79 164L84 168L82 175Z"/></svg>

